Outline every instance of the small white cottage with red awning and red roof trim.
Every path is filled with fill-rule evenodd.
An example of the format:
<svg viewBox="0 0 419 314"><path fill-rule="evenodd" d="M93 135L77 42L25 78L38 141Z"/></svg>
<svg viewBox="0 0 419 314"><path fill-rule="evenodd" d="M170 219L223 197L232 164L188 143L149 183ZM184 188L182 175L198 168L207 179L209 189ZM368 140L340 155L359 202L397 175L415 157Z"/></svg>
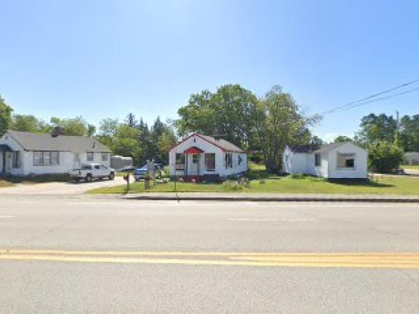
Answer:
<svg viewBox="0 0 419 314"><path fill-rule="evenodd" d="M223 179L247 172L247 154L226 140L193 133L169 152L171 177Z"/></svg>

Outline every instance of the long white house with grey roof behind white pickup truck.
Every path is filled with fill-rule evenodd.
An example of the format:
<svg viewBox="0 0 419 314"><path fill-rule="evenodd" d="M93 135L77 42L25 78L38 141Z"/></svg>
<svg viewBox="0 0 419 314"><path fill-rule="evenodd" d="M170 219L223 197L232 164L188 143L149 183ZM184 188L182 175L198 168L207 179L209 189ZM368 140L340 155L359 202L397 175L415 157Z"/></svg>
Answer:
<svg viewBox="0 0 419 314"><path fill-rule="evenodd" d="M84 136L8 130L0 138L0 175L66 173L82 163L110 166L110 149Z"/></svg>

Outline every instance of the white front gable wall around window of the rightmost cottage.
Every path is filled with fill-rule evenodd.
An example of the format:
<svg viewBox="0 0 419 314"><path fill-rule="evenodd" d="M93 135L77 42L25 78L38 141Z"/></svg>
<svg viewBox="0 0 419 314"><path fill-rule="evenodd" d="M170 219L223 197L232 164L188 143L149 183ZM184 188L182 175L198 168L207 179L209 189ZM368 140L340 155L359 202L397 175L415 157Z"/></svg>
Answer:
<svg viewBox="0 0 419 314"><path fill-rule="evenodd" d="M339 154L354 154L355 167L339 168L337 167L337 156ZM354 144L346 143L332 151L329 151L329 177L335 179L366 179L368 177L368 154L365 149L362 149Z"/></svg>

